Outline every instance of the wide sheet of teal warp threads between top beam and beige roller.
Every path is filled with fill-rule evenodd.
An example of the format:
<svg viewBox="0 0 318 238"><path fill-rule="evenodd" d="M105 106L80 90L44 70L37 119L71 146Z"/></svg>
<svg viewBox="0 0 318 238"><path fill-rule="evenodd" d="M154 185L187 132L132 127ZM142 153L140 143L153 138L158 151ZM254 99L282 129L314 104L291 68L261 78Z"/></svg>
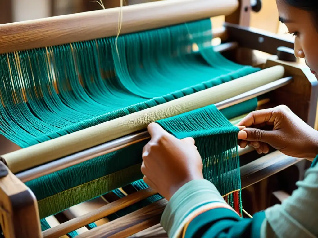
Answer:
<svg viewBox="0 0 318 238"><path fill-rule="evenodd" d="M259 70L204 48L209 31L207 19L123 35L120 59L115 37L2 54L0 133L27 147Z"/></svg>

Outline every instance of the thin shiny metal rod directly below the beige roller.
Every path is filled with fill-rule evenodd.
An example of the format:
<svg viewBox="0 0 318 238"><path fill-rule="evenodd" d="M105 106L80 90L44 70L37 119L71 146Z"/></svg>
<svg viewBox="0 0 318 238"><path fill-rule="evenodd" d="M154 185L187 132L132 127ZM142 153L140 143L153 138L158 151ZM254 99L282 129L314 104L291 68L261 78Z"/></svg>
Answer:
<svg viewBox="0 0 318 238"><path fill-rule="evenodd" d="M265 84L261 87L252 89L250 91L247 91L245 93L242 93L238 96L234 96L232 98L226 99L222 102L215 103L215 106L220 110L227 107L230 107L232 105L238 104L240 102L245 102L251 98L254 98L259 95L263 95L267 92L270 92L272 90L278 89L280 87L283 87L293 81L292 77L285 77L279 80L276 80L272 83ZM142 131L135 134L131 134L128 136L123 136L121 138L118 138L116 140L106 142L103 144L100 144L98 146L80 151L78 153L75 153L73 155L66 156L64 158L52 161L47 164L40 165L38 167L23 171L18 173L16 176L22 181L27 182L32 179L36 179L38 177L48 175L50 173L59 171L61 169L65 169L68 167L71 167L73 165L79 164L81 162L90 160L92 158L106 155L110 152L125 148L129 145L135 144L137 142L144 141L146 139L149 139L150 135L148 131Z"/></svg>

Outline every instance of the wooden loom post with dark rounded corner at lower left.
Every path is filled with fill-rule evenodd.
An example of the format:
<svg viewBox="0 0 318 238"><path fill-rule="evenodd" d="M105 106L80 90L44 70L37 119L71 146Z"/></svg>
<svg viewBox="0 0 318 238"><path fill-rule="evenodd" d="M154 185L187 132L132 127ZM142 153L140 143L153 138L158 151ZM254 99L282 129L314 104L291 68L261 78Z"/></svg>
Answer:
<svg viewBox="0 0 318 238"><path fill-rule="evenodd" d="M34 194L1 161L0 224L6 238L42 237L38 202Z"/></svg>

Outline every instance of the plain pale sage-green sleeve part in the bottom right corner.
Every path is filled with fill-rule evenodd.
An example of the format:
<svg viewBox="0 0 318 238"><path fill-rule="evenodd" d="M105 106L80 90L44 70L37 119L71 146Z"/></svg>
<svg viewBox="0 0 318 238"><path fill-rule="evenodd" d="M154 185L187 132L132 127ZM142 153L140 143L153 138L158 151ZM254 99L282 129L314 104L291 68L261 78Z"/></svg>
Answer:
<svg viewBox="0 0 318 238"><path fill-rule="evenodd" d="M290 197L265 210L264 237L318 236L318 166L314 162Z"/></svg>

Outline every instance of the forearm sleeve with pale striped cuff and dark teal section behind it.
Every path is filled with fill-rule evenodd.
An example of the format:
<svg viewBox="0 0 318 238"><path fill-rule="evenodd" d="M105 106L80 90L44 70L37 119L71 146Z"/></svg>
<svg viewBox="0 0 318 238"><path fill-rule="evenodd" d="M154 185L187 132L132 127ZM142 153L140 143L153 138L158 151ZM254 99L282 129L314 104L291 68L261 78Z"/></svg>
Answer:
<svg viewBox="0 0 318 238"><path fill-rule="evenodd" d="M191 181L172 196L161 218L169 237L259 237L265 213L242 219L206 180Z"/></svg>

